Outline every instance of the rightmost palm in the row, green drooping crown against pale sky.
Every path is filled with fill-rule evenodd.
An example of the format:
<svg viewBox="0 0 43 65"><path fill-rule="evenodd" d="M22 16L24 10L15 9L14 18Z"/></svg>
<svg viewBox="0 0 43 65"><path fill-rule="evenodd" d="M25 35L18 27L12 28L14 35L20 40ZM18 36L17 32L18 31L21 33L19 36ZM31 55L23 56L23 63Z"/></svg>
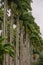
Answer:
<svg viewBox="0 0 43 65"><path fill-rule="evenodd" d="M38 40L41 40L40 30L39 30L38 25L34 22L34 18L33 18L32 14L30 12L27 13L26 11L24 11L24 15L22 13L22 15L20 16L20 20L23 21L23 25L24 25L24 28L25 28L25 31L26 31L26 42L25 42L26 45L25 45L25 47L26 47L27 50L26 49L25 50L26 50L26 52L28 51L27 53L29 53L27 55L27 57L25 57L24 59L26 59L26 58L29 59L29 55L30 55L30 60L31 60L32 59L32 53L31 53L32 49L31 49L31 47L34 46L34 43L38 42ZM35 39L33 39L31 37L34 37ZM38 44L40 45L41 42L39 41ZM37 43L35 44L35 46L37 46ZM31 60L31 62L32 62L32 60Z"/></svg>

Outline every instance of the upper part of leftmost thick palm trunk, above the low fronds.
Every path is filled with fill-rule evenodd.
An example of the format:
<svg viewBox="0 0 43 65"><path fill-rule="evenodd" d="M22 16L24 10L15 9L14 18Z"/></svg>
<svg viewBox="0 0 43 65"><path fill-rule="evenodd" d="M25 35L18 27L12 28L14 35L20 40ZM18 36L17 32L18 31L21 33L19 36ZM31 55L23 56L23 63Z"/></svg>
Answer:
<svg viewBox="0 0 43 65"><path fill-rule="evenodd" d="M6 36L6 21L7 21L7 0L4 0L4 21L2 24L2 36ZM5 43L5 40L4 40Z"/></svg>

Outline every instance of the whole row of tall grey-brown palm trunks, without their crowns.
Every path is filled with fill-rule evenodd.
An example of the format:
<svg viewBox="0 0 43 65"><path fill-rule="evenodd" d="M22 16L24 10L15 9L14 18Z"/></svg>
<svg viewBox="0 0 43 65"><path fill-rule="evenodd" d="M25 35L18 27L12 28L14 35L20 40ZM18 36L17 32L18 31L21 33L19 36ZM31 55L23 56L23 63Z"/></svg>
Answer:
<svg viewBox="0 0 43 65"><path fill-rule="evenodd" d="M11 4L12 6L12 4ZM2 37L7 37L7 0L4 0L4 21L2 24ZM13 12L11 11L11 20L10 20L10 41L13 42ZM8 40L4 40L3 43L8 43ZM31 65L30 58L30 42L28 33L26 33L26 38L24 41L24 27L20 29L19 16L16 19L16 57L12 58L8 54L4 55L3 65Z"/></svg>

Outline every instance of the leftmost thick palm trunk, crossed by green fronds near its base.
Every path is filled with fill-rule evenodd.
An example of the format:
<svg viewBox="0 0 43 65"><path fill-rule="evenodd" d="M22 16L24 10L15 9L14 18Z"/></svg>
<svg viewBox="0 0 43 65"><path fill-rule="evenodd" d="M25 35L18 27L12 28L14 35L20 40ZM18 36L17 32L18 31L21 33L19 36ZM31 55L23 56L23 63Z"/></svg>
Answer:
<svg viewBox="0 0 43 65"><path fill-rule="evenodd" d="M4 22L3 22L3 27L2 27L2 37L7 36L7 0L4 0ZM6 40L3 41L3 43L6 43ZM6 64L8 63L8 60L6 59L5 55L4 55L4 61L3 61L3 65L8 65Z"/></svg>

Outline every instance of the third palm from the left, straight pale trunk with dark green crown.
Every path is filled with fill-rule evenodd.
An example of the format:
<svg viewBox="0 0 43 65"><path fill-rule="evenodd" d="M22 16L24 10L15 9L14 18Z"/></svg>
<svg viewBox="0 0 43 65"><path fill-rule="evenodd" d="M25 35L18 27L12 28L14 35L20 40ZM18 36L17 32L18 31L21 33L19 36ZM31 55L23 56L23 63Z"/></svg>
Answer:
<svg viewBox="0 0 43 65"><path fill-rule="evenodd" d="M29 3L31 2L31 1L14 1L14 4L15 5L17 5L16 6L16 10L15 9L13 9L14 10L14 14L16 14L16 65L17 64L19 64L19 33L20 33L20 31L19 31L19 15L21 14L21 11L24 9L24 10L27 10L28 8L31 10L31 7L30 7L30 4ZM25 3L25 4L22 4L22 3ZM27 5L28 4L28 5ZM24 8L23 8L24 7ZM15 6L14 6L14 8L15 8ZM16 11L16 12L15 12ZM18 12L20 13L19 15L18 15Z"/></svg>

